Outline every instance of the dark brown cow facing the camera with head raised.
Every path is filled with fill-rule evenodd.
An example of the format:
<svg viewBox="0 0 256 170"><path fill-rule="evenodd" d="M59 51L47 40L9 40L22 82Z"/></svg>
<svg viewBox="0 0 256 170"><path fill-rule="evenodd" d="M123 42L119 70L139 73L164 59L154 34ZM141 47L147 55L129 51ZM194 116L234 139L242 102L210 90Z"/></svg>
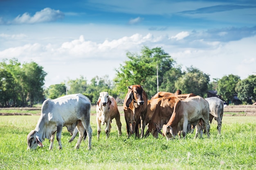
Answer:
<svg viewBox="0 0 256 170"><path fill-rule="evenodd" d="M141 137L144 136L145 117L147 113L148 97L141 85L128 86L128 92L124 99L124 117L128 138L135 131L135 137L139 138L139 126L141 124ZM134 125L134 127L132 126Z"/></svg>

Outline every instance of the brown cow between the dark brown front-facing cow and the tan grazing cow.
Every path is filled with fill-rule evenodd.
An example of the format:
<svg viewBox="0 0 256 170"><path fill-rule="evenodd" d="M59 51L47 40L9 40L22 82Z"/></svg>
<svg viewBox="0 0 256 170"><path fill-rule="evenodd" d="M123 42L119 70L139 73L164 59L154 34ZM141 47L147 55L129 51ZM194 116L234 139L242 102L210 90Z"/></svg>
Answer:
<svg viewBox="0 0 256 170"><path fill-rule="evenodd" d="M175 102L178 99L183 100L193 96L195 96L195 94L189 93L148 100L147 115L145 120L146 124L148 124L148 130L146 131L145 136L147 137L149 133L152 133L152 135L157 138L158 132L162 134L160 129L162 129L163 124L167 124L171 118Z"/></svg>

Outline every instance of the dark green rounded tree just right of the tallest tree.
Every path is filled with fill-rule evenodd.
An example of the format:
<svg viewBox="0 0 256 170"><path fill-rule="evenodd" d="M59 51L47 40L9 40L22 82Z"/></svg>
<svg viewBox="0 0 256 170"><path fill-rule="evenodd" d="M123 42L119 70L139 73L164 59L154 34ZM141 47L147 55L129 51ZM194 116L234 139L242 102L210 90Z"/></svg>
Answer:
<svg viewBox="0 0 256 170"><path fill-rule="evenodd" d="M209 75L193 66L186 69L187 73L178 78L175 82L175 87L180 89L182 93L194 93L204 97L210 81Z"/></svg>

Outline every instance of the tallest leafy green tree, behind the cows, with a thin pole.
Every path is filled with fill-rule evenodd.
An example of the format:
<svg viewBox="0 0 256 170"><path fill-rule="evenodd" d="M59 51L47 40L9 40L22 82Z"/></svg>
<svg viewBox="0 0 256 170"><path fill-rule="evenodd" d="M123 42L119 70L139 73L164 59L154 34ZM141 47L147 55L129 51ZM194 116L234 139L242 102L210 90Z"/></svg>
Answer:
<svg viewBox="0 0 256 170"><path fill-rule="evenodd" d="M143 86L148 96L157 93L157 84L160 91L174 88L174 83L172 87L168 86L167 83L169 79L172 79L173 74L171 73L176 71L174 68L175 61L162 48L149 49L144 46L140 55L128 52L126 56L128 61L125 61L125 64L120 65L119 70L116 70L117 77L114 79L119 93L125 95L127 86L132 84Z"/></svg>

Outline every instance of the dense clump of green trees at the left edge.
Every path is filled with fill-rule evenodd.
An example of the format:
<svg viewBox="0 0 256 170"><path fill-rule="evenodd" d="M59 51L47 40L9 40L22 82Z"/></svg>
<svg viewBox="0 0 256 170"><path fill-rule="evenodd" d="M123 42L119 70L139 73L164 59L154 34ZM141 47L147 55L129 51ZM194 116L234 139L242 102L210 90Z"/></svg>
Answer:
<svg viewBox="0 0 256 170"><path fill-rule="evenodd" d="M35 62L20 64L17 59L0 63L1 106L33 106L43 98L47 73Z"/></svg>

